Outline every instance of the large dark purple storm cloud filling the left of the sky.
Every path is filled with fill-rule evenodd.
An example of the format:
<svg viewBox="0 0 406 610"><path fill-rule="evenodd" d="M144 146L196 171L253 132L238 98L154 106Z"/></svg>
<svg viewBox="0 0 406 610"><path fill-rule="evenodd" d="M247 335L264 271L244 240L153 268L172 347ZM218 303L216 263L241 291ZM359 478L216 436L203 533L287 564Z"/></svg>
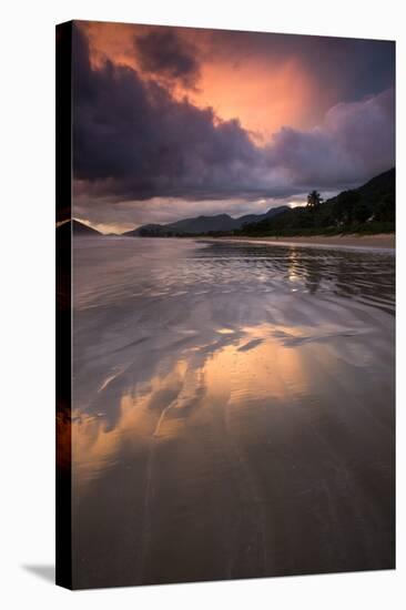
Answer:
<svg viewBox="0 0 406 610"><path fill-rule="evenodd" d="M92 69L74 35L74 176L123 199L251 190L258 150L237 121L176 101L153 81L105 62Z"/></svg>

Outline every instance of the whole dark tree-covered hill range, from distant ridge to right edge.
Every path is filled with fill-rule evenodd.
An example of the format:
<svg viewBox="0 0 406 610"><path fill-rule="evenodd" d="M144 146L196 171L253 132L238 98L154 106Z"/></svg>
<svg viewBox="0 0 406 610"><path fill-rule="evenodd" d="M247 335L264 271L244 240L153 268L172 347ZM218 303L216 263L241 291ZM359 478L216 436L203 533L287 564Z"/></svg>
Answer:
<svg viewBox="0 0 406 610"><path fill-rule="evenodd" d="M232 218L227 214L199 216L175 223L146 224L124 235L141 237L311 236L343 233L376 234L395 231L395 169L337 196L323 201L318 191L307 196L307 205L268 210Z"/></svg>

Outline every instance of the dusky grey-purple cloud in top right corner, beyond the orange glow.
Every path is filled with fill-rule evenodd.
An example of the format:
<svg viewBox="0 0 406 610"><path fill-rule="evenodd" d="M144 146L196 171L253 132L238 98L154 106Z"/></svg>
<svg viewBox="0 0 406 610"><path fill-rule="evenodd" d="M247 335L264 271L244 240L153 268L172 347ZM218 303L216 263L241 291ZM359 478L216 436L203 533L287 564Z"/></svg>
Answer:
<svg viewBox="0 0 406 610"><path fill-rule="evenodd" d="M209 37L205 47L213 61L243 63L250 57L272 68L300 58L317 94L333 104L337 98L355 101L394 85L395 44L388 40L216 30Z"/></svg>

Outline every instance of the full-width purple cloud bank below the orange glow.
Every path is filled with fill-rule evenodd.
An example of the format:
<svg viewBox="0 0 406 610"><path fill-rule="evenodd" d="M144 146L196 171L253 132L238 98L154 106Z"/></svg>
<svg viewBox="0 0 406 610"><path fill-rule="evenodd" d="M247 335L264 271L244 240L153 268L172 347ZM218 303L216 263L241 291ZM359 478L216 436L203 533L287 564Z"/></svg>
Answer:
<svg viewBox="0 0 406 610"><path fill-rule="evenodd" d="M302 37L303 38L303 37ZM261 148L234 121L106 61L94 68L74 30L74 159L81 202L282 197L351 186L394 164L393 90L341 103L311 131Z"/></svg>

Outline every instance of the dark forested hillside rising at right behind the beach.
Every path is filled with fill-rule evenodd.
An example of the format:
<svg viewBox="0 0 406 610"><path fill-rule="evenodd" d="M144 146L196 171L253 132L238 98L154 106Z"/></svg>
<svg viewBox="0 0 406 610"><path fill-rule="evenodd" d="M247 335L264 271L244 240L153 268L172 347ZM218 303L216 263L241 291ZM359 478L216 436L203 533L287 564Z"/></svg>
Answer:
<svg viewBox="0 0 406 610"><path fill-rule="evenodd" d="M343 191L315 207L290 209L273 218L244 225L238 235L311 235L395 231L395 169L358 189Z"/></svg>

